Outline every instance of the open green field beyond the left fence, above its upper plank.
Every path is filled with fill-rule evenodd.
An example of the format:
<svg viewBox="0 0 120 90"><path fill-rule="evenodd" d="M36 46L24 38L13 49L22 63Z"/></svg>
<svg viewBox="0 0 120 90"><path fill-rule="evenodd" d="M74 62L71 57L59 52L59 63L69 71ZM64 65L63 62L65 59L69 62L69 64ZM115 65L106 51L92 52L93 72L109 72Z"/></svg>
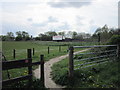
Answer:
<svg viewBox="0 0 120 90"><path fill-rule="evenodd" d="M34 42L2 42L2 52L6 56L7 60L13 59L13 49L16 49L16 60L24 59L27 56L27 49L35 48L35 55L33 56L33 61L39 61L40 54L45 55L45 60L50 58L60 56L67 53L68 45L93 45L97 43L86 43L86 42L44 42L44 41L34 41ZM50 45L66 45L61 47L61 52L59 52L58 46ZM50 54L48 54L48 46L50 46Z"/></svg>

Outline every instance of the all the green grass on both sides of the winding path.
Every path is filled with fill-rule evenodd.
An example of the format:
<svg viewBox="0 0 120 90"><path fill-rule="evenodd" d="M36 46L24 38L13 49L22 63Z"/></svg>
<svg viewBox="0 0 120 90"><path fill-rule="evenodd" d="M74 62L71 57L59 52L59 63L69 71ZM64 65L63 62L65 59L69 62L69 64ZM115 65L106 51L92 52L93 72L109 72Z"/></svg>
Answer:
<svg viewBox="0 0 120 90"><path fill-rule="evenodd" d="M67 54L67 45L77 45L77 46L88 46L88 45L95 45L97 43L93 42L41 42L41 41L22 41L22 42L2 42L2 52L6 56L7 60L14 60L13 59L13 49L16 49L16 59L25 59L27 58L27 49L35 48L35 55L32 56L33 62L39 61L40 54L44 54L45 61L50 60L51 58L61 56ZM56 45L56 46L52 46ZM59 52L59 47L57 45L66 45L61 47L61 52ZM48 46L50 47L50 54L48 54ZM79 51L81 49L75 49L75 51ZM84 57L85 58L85 57ZM77 63L76 63L77 64ZM120 74L118 73L118 62L96 65L95 68L98 70L102 70L99 73L95 73L91 70L91 68L86 68L82 70L76 70L74 72L75 78L72 84L72 87L80 87L80 88L91 88L91 87L118 87L120 85L120 81L118 80ZM114 68L112 68L114 67ZM35 69L36 67L33 67ZM53 72L53 80L61 85L67 85L67 87L71 87L68 84L68 58L64 59L52 67ZM89 71L89 72L88 72ZM82 73L81 73L82 72ZM27 68L20 68L20 69L12 69L9 70L10 77L18 77L27 75ZM107 74L105 74L107 73ZM106 78L107 77L107 78ZM3 79L8 79L7 71L3 71L2 74ZM108 79L110 78L110 79ZM105 80L105 82L103 81ZM39 81L37 81L38 83ZM21 84L23 85L23 84ZM37 84L35 84L37 85Z"/></svg>

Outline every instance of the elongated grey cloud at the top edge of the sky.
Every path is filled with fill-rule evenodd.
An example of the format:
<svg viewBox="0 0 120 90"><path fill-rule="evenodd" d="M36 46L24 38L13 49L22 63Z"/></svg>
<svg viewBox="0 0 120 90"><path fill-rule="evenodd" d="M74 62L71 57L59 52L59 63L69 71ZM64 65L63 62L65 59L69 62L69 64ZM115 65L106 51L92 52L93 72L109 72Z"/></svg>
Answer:
<svg viewBox="0 0 120 90"><path fill-rule="evenodd" d="M48 2L51 7L55 8L66 8L66 7L74 7L80 8L85 5L91 4L91 2Z"/></svg>

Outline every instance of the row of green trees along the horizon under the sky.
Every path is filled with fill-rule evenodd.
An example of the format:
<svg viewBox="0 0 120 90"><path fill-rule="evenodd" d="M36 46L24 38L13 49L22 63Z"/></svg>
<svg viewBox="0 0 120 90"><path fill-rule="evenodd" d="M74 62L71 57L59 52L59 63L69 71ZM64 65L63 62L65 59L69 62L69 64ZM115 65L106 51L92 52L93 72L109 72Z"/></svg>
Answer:
<svg viewBox="0 0 120 90"><path fill-rule="evenodd" d="M6 35L1 35L0 39L2 41L28 41L28 40L40 40L40 41L52 41L52 37L56 35L61 35L66 39L72 40L89 40L89 41L96 41L99 42L106 42L109 40L113 35L120 35L120 29L118 28L108 28L107 25L104 25L102 28L97 28L94 34L89 33L78 33L76 31L68 31L66 32L55 32L55 31L48 31L45 33L38 34L37 37L33 37L29 35L26 31L17 31L16 36L13 32L7 32Z"/></svg>

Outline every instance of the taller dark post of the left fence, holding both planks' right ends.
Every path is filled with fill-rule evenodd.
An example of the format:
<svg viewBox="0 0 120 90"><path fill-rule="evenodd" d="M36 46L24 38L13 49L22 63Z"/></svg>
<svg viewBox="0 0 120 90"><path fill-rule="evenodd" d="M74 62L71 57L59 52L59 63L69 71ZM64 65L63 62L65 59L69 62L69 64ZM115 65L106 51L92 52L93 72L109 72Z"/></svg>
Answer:
<svg viewBox="0 0 120 90"><path fill-rule="evenodd" d="M28 66L28 74L32 75L32 52L31 49L27 49L27 58L28 58L28 63L30 66ZM31 87L32 85L32 76L29 78L29 86Z"/></svg>

